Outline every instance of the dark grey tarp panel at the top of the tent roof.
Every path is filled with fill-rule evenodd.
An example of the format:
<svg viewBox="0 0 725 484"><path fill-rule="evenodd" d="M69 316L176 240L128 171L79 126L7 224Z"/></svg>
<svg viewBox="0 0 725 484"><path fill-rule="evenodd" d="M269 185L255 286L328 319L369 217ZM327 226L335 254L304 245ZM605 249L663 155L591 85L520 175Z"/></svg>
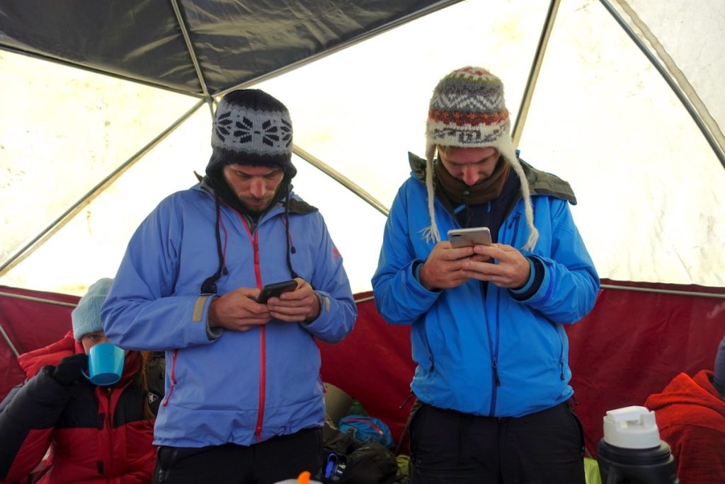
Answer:
<svg viewBox="0 0 725 484"><path fill-rule="evenodd" d="M202 96L184 31L207 92L215 94L451 3L455 2L3 1L0 48Z"/></svg>

